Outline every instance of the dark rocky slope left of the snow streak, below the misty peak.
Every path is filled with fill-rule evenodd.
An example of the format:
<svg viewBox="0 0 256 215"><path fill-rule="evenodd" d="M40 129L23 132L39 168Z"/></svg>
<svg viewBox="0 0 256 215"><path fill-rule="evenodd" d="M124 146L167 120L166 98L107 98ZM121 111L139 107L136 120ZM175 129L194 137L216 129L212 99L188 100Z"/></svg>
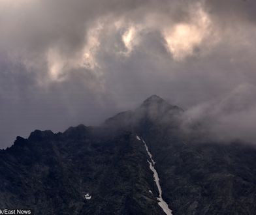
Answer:
<svg viewBox="0 0 256 215"><path fill-rule="evenodd" d="M0 164L0 208L33 208L36 214L163 214L153 196L157 188L146 151L131 132L85 126L63 134L37 130L1 151Z"/></svg>

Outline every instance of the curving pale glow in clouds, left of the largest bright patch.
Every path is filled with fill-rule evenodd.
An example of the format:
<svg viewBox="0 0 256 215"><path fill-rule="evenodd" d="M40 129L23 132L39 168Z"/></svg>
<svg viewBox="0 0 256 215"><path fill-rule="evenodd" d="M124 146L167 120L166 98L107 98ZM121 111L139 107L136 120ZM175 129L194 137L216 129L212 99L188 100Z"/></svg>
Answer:
<svg viewBox="0 0 256 215"><path fill-rule="evenodd" d="M63 81L67 71L72 68L84 68L91 70L99 78L103 75L101 72L101 64L97 59L97 55L101 48L105 48L103 43L104 38L110 38L111 36L118 35L118 32L124 32L120 35L120 40L125 47L125 50L121 47L114 47L113 54L129 57L135 48L140 43L138 33L141 29L136 26L135 23L127 25L126 20L118 20L114 23L110 23L107 18L99 19L92 25L86 33L86 40L82 51L67 58L63 53L59 52L57 48L50 48L47 53L48 61L48 74L52 81ZM102 33L104 32L104 36ZM103 47L101 47L103 46Z"/></svg>

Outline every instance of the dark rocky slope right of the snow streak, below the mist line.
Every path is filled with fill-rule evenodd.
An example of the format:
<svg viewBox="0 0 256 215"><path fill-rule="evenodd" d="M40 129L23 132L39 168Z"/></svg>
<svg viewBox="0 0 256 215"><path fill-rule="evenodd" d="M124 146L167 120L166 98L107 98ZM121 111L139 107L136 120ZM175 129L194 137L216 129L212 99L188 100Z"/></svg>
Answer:
<svg viewBox="0 0 256 215"><path fill-rule="evenodd" d="M157 132L144 134L144 139L174 214L255 214L254 147L184 143L161 139Z"/></svg>

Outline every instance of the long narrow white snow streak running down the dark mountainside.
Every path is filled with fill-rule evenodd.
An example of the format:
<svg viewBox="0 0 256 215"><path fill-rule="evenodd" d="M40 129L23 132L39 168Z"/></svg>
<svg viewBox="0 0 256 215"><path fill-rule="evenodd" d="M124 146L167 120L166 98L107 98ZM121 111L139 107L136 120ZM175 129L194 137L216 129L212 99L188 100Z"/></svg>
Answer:
<svg viewBox="0 0 256 215"><path fill-rule="evenodd" d="M158 192L159 192L159 197L157 197L157 200L159 201L158 205L163 209L165 214L172 215L172 210L170 210L170 208L168 208L167 203L165 202L165 200L163 200L163 197L162 197L162 188L161 188L160 183L159 183L159 177L158 177L158 173L155 169L155 162L153 160L152 154L148 150L148 146L146 145L146 142L144 141L144 139L142 139L138 136L136 136L136 138L138 140L142 141L142 143L144 143L144 147L145 147L146 151L148 152L148 156L150 156L150 160L148 160L148 164L150 164L150 169L153 172L153 179L155 180L155 184L157 185L157 189L158 189Z"/></svg>

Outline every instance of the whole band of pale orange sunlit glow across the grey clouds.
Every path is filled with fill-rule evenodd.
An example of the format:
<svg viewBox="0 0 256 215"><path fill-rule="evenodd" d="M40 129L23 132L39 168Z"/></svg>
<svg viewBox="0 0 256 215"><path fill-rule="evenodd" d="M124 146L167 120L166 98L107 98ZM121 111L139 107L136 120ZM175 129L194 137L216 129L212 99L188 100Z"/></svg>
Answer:
<svg viewBox="0 0 256 215"><path fill-rule="evenodd" d="M30 1L22 0L20 2L28 3ZM40 3L44 5L44 2ZM69 72L83 69L85 71L89 70L91 74L102 79L104 78L103 54L116 58L121 57L123 60L128 59L133 53L136 53L136 50L140 50L140 46L144 46L144 41L148 39L148 33L161 35L162 37L160 36L159 38L163 42L162 44L165 44L167 51L171 53L171 57L175 61L182 61L186 57L197 53L195 50L201 48L201 45L204 44L204 41L212 31L211 20L203 5L191 3L191 8L186 8L186 10L188 18L182 22L173 21L168 13L160 14L152 9L142 12L140 19L123 14L118 16L112 16L108 13L101 14L101 16L91 20L88 25L80 25L84 27L84 30L79 30L80 36L78 38L81 37L82 39L80 40L80 46L74 50L72 48L69 50L69 46L72 46L72 41L76 40L77 29L74 27L74 38L72 38L72 31L66 31L70 26L67 29L65 27L62 29L62 35L56 33L56 36L52 33L52 29L55 29L55 25L59 25L59 15L55 16L54 14L52 16L56 18L54 19L56 23L54 25L49 23L49 29L46 29L49 31L42 31L46 36L50 35L50 38L55 40L42 48L46 56L44 60L48 65L46 73L48 78L45 78L45 80L63 81L68 77L67 74ZM44 18L43 13L40 16ZM45 27L45 25L42 25L42 27ZM35 36L32 38L38 38L38 35L38 31L35 31ZM59 42L61 40L57 39L59 36L63 37L63 44ZM71 44L69 44L70 41ZM31 42L28 44L31 44ZM63 48L63 46L67 46L67 49ZM150 49L151 47L147 46L142 50L147 55L155 51ZM31 56L36 57L37 55ZM37 62L37 59L22 59L22 61Z"/></svg>

